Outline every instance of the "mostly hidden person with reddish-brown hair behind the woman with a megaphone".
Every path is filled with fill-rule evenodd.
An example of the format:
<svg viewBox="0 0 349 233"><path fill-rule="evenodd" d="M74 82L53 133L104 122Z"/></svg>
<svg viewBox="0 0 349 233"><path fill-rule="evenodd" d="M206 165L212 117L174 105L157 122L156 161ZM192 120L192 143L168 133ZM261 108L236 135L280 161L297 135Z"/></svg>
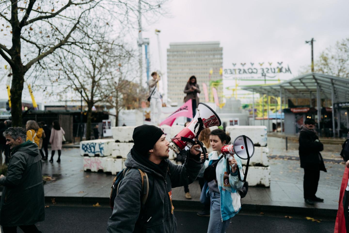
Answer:
<svg viewBox="0 0 349 233"><path fill-rule="evenodd" d="M211 153L212 147L210 145L210 133L211 130L210 128L206 128L203 129L200 134L199 134L199 141L202 142L202 144L205 146L206 148L206 159L208 159L208 154ZM205 185L205 178L203 177L203 173L205 172L205 166L202 166L202 168L200 169L199 175L198 175L198 180L199 180L199 185L200 185L200 190L202 191L203 186ZM201 217L209 217L210 216L210 198L207 197L207 200L204 204L204 207L201 211L199 211L198 213L196 213L198 216Z"/></svg>

